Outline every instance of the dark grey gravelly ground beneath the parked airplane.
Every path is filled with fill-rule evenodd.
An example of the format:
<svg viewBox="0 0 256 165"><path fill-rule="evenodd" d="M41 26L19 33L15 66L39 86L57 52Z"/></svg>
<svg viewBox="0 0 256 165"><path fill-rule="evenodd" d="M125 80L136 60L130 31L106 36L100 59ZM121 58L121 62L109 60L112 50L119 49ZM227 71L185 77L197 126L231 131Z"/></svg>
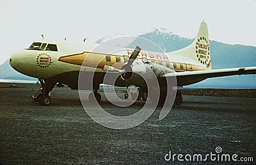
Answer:
<svg viewBox="0 0 256 165"><path fill-rule="evenodd" d="M51 106L31 104L31 89L0 88L0 164L255 164L256 98L186 96L163 120L161 108L137 127L108 129L86 114L76 90L54 88ZM143 106L113 106L127 116ZM193 161L193 154L216 153L253 162ZM166 161L165 155L176 154ZM177 155L190 154L180 162ZM219 155L220 155L219 154ZM216 156L218 154L216 153ZM167 157L168 158L168 157ZM187 157L188 158L188 157ZM184 156L182 157L184 159ZM230 157L231 159L231 157Z"/></svg>

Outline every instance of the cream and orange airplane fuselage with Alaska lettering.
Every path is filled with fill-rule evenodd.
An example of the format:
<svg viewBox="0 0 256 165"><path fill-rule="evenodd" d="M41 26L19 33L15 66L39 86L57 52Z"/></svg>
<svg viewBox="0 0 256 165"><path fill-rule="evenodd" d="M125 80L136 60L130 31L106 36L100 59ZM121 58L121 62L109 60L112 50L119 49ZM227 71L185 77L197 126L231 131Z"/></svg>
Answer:
<svg viewBox="0 0 256 165"><path fill-rule="evenodd" d="M115 61L115 56L120 57L120 65L117 65L117 67L122 67L122 65L125 63L125 56L131 56L132 53L132 49L125 49L124 47L113 47L110 45L104 46L104 49L102 49L102 47L97 49L99 45L95 43L83 43L83 45L76 44L75 46L74 44L68 43L67 41L52 42L47 40L38 40L35 42L56 44L58 51L47 49L22 49L12 54L10 57L10 65L12 65L15 70L22 74L40 79L47 79L49 77L63 74L65 72L95 70L93 65L90 66L90 63L95 62L95 60L92 58L90 58L90 62L87 62L87 65L81 66L84 59L88 57L88 54L93 54L93 58L102 59L104 59L105 56L111 56L111 61L99 61L99 66L112 66L115 63L118 63ZM111 52L114 49L118 51ZM207 70L204 65L193 61L192 59L172 54L172 52L164 53L142 50L137 59L142 58L147 58L148 61L158 63L164 67L173 68L176 72ZM97 67L95 71L106 72L102 70L101 67Z"/></svg>

